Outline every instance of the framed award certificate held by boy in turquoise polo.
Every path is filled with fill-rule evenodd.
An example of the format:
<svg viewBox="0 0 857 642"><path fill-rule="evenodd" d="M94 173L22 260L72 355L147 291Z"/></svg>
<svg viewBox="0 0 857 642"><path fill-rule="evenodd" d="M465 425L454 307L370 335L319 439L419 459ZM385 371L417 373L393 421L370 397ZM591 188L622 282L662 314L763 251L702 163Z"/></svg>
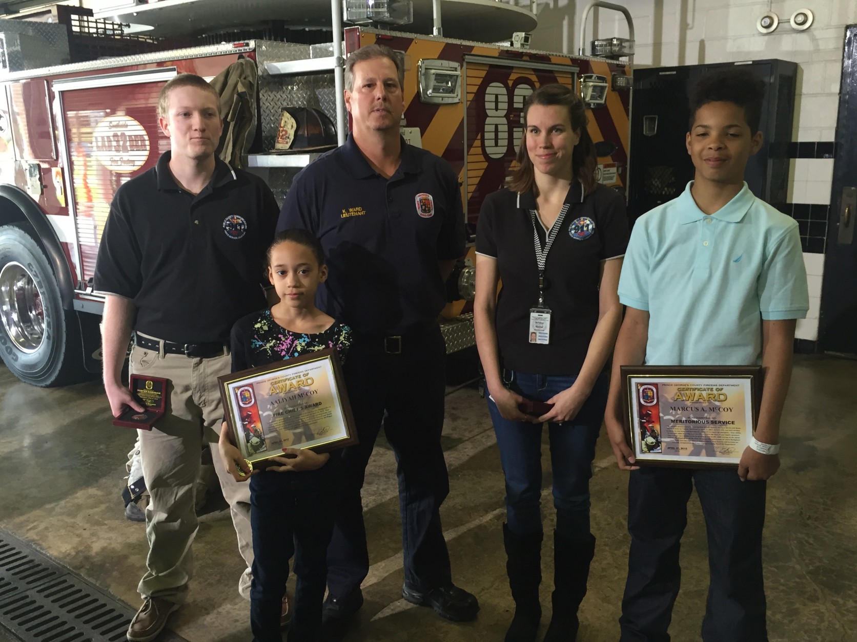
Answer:
<svg viewBox="0 0 857 642"><path fill-rule="evenodd" d="M626 437L640 466L737 467L762 397L758 366L622 366Z"/></svg>

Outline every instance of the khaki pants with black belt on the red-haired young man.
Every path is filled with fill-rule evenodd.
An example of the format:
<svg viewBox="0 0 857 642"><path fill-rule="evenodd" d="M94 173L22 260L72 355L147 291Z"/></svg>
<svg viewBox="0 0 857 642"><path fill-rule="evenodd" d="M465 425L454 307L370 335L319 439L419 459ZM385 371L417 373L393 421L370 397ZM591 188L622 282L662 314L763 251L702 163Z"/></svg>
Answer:
<svg viewBox="0 0 857 642"><path fill-rule="evenodd" d="M153 430L138 431L143 479L151 499L146 508L148 570L137 591L144 598L163 597L174 603L183 603L187 596L193 574L190 544L198 525L195 485L200 474L200 451L206 440L212 443L214 468L229 502L238 551L247 565L238 591L249 597L253 566L249 484L238 484L226 473L217 447L223 419L217 377L231 372L231 357L224 354L193 359L135 346L129 370L168 380L165 415Z"/></svg>

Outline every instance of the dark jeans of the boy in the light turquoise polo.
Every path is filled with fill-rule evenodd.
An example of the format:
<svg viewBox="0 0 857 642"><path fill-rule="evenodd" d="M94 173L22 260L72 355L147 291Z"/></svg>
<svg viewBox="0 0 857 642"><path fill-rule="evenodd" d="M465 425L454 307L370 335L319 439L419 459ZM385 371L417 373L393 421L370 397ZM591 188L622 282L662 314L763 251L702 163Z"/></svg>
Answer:
<svg viewBox="0 0 857 642"><path fill-rule="evenodd" d="M696 487L708 532L710 583L704 642L766 642L762 528L764 481L734 470L641 468L628 479L631 551L621 642L669 642L679 593L679 549Z"/></svg>

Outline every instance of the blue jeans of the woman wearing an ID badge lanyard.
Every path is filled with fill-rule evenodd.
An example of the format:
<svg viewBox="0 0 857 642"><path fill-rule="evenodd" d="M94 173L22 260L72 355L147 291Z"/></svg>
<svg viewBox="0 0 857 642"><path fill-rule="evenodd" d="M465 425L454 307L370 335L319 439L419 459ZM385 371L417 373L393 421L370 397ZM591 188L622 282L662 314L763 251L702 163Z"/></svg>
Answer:
<svg viewBox="0 0 857 642"><path fill-rule="evenodd" d="M577 379L506 370L504 383L518 395L547 401ZM589 480L595 444L607 405L608 377L597 378L589 398L571 421L548 424L550 461L554 472L556 529L569 539L590 535ZM506 476L506 521L509 529L524 537L542 531L542 428L525 421L503 419L488 399L494 422L500 461Z"/></svg>

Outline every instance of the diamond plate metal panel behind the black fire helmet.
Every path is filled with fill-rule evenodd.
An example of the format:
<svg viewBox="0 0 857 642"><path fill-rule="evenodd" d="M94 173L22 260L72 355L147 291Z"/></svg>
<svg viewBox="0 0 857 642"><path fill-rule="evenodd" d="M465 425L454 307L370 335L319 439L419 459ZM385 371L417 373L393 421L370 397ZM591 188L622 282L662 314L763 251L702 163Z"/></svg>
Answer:
<svg viewBox="0 0 857 642"><path fill-rule="evenodd" d="M295 45L256 40L256 60L259 62L259 109L264 151L273 150L277 140L279 117L284 107L312 107L323 111L336 123L336 88L333 72L271 75L265 68L266 63L329 56L333 56L333 43Z"/></svg>

